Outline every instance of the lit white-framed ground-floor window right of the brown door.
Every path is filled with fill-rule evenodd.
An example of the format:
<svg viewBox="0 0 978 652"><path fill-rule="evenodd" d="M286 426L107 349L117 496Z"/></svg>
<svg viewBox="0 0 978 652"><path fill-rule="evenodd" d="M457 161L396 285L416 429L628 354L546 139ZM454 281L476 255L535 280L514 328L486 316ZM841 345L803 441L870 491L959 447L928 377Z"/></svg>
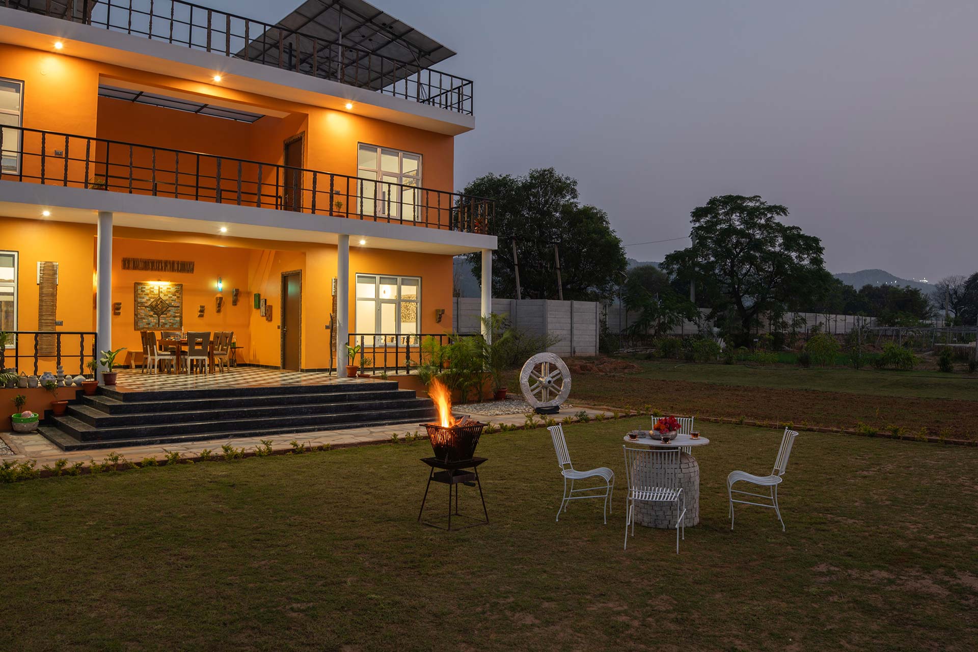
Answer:
<svg viewBox="0 0 978 652"><path fill-rule="evenodd" d="M358 274L356 285L356 334L374 334L377 346L421 332L421 279Z"/></svg>

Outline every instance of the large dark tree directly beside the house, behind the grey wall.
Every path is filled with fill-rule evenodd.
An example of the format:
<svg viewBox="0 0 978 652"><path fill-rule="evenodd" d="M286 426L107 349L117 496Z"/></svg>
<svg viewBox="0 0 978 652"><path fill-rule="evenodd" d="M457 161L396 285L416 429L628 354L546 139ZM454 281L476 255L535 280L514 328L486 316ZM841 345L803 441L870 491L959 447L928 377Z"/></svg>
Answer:
<svg viewBox="0 0 978 652"><path fill-rule="evenodd" d="M557 298L555 243L564 299L607 298L628 266L607 213L582 205L577 181L554 168L530 170L524 176L487 174L468 184L464 193L496 201L496 215L489 222L489 233L499 238L493 252L494 296L516 295L513 241L523 298ZM469 254L468 260L479 278L480 254Z"/></svg>

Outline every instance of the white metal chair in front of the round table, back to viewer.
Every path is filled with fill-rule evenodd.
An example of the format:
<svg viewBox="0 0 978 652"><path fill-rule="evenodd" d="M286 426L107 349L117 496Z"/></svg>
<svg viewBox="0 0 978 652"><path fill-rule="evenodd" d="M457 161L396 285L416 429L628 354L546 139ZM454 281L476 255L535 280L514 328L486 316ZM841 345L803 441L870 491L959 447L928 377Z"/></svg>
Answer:
<svg viewBox="0 0 978 652"><path fill-rule="evenodd" d="M636 502L672 502L676 504L676 554L679 554L680 528L686 540L686 495L679 486L679 449L630 449L625 451L625 548L628 549L628 526L635 536ZM681 508L682 505L682 508Z"/></svg>

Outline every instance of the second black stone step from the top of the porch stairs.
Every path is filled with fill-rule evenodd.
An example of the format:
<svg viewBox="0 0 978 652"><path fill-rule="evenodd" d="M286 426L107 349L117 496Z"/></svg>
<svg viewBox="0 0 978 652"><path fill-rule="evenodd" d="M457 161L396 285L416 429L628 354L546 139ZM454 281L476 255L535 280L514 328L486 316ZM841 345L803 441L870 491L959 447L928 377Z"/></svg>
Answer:
<svg viewBox="0 0 978 652"><path fill-rule="evenodd" d="M260 394L244 397L217 397L210 399L189 398L196 394L184 392L175 399L151 401L119 401L109 396L96 395L83 398L82 405L108 414L190 412L201 409L234 409L261 406L301 406L344 402L386 401L414 399L410 389L382 389L357 392L320 392L293 394Z"/></svg>

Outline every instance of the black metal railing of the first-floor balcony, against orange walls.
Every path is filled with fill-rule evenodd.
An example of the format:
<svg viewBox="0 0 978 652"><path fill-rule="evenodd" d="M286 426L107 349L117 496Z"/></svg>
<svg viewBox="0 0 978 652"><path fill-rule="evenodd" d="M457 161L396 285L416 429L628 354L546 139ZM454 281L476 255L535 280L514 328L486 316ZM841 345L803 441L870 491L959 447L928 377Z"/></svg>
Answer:
<svg viewBox="0 0 978 652"><path fill-rule="evenodd" d="M53 131L0 129L0 180L488 233L495 203L407 184Z"/></svg>

